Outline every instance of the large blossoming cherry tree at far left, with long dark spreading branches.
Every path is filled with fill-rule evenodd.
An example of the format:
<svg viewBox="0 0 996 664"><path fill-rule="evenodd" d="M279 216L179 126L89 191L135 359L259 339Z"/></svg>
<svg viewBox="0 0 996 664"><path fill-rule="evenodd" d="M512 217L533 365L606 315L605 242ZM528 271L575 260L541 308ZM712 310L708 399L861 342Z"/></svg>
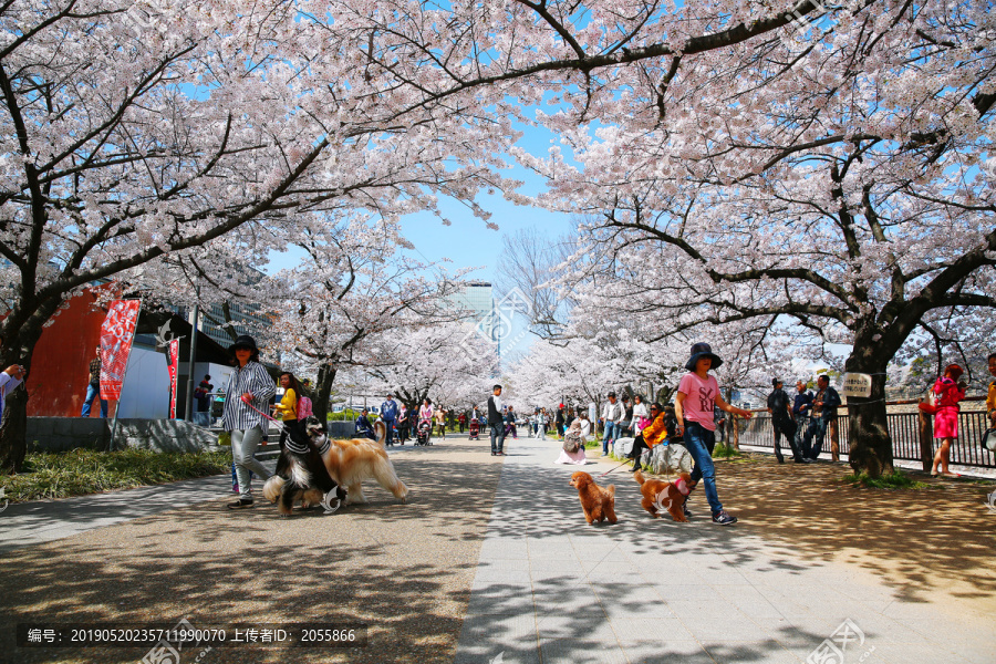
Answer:
<svg viewBox="0 0 996 664"><path fill-rule="evenodd" d="M0 361L30 371L75 290L236 229L258 239L248 262L317 212L396 217L449 196L484 216L473 199L505 186L490 155L512 136L507 123L413 107L417 86L363 65L373 33L355 10L0 7ZM3 470L23 459L25 413L19 391L0 429Z"/></svg>

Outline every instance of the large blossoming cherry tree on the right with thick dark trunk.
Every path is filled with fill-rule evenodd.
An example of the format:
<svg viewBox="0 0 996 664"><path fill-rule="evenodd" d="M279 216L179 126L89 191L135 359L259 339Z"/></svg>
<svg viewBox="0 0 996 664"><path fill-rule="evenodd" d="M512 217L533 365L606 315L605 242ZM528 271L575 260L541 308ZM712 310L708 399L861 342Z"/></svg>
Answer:
<svg viewBox="0 0 996 664"><path fill-rule="evenodd" d="M579 43L587 77L540 118L562 145L521 160L551 208L601 215L579 256L644 329L761 319L850 345L873 382L849 401L850 461L890 473L889 361L933 310L996 305L992 12L847 3L786 41L760 6L723 8L684 29L713 34L662 20L666 45L613 68Z"/></svg>

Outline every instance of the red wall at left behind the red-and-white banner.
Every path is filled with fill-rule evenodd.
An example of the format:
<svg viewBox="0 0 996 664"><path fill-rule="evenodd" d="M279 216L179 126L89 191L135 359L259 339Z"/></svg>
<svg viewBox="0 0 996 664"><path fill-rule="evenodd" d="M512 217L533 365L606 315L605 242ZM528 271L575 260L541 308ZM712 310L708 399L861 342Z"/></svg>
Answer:
<svg viewBox="0 0 996 664"><path fill-rule="evenodd" d="M101 342L101 323L106 312L94 307L89 291L71 298L51 326L42 332L28 375L29 416L79 417L90 383L90 361ZM114 403L110 404L114 413ZM101 403L94 400L91 417L100 417Z"/></svg>

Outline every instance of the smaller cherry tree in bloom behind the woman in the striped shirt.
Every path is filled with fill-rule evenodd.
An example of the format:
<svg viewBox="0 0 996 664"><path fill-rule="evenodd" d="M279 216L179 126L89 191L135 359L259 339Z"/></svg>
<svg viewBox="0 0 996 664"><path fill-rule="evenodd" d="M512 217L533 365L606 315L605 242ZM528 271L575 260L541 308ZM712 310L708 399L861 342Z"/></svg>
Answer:
<svg viewBox="0 0 996 664"><path fill-rule="evenodd" d="M277 273L271 339L318 373L314 413L324 418L338 372L393 360L386 340L464 315L452 302L459 274L415 260L396 221L356 217L309 225L293 269Z"/></svg>

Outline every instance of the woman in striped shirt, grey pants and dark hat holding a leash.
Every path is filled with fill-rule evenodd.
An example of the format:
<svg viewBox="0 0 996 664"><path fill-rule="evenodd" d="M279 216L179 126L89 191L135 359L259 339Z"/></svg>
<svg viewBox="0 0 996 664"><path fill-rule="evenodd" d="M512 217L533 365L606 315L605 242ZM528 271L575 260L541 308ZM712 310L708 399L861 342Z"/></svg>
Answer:
<svg viewBox="0 0 996 664"><path fill-rule="evenodd" d="M225 390L221 427L231 435L231 457L239 481L239 499L229 504L228 508L240 509L252 506L249 473L256 473L263 480L270 478L270 473L252 455L267 435L263 413L267 403L277 394L277 384L259 363L255 339L242 334L228 350L235 355L237 366Z"/></svg>

